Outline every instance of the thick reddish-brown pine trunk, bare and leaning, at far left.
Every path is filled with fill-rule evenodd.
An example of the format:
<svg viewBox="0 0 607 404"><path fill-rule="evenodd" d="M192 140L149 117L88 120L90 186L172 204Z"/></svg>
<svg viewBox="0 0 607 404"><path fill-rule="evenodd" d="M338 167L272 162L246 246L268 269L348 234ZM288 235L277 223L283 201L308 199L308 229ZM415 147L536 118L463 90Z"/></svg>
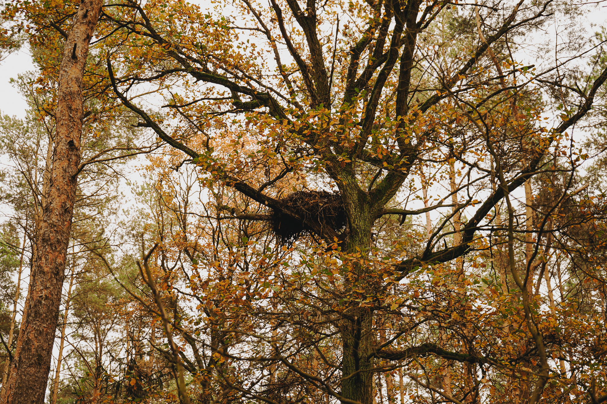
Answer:
<svg viewBox="0 0 607 404"><path fill-rule="evenodd" d="M44 403L80 164L84 65L101 5L101 0L80 3L63 52L49 194L36 234L30 293L25 301L15 359L0 398L4 404Z"/></svg>

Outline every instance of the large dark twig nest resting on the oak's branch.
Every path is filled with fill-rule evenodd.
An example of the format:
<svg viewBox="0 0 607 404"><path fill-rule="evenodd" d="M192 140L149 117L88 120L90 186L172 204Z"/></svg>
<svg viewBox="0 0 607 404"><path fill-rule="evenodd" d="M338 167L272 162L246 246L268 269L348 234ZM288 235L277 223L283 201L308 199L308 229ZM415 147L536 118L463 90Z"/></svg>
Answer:
<svg viewBox="0 0 607 404"><path fill-rule="evenodd" d="M327 191L297 191L280 199L280 202L292 213L273 211L271 229L282 244L292 244L305 234L316 234L305 220L314 220L321 228L339 231L345 227L346 216L341 195ZM316 234L319 236L319 234Z"/></svg>

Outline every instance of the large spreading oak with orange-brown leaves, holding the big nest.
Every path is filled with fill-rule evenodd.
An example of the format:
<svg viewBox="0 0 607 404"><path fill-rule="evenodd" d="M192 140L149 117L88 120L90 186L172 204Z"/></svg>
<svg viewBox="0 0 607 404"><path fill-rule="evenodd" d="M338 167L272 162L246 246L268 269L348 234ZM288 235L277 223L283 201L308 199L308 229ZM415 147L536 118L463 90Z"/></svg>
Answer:
<svg viewBox="0 0 607 404"><path fill-rule="evenodd" d="M604 66L595 65L575 105L561 107L560 122L542 123L543 106L534 102L542 85L557 91L571 85L549 76L555 65L534 70L518 64L512 48L545 24L557 4L308 1L304 7L288 0L203 11L180 2L123 7L129 11L112 16L121 36L107 59L115 94L139 114L141 126L190 157L209 190L222 184L246 197L241 209L223 204L220 194L220 211L271 222L276 236L263 252L232 233L220 242L222 254L205 261L210 279L223 289L209 297L220 308L202 316L211 341L202 344L226 366L217 373L222 394L277 402L322 391L342 403L370 404L374 389L382 391L374 375L413 361L410 369L423 369L428 379L419 373L412 379L432 397L478 400L485 382L476 374L492 369L498 375L510 366L504 363L517 365L502 383L520 382L500 394L530 403L542 397L551 365L543 317L529 291L538 242L524 239L531 250L523 259L517 239L546 230L532 226L531 214L529 226L518 224L515 197L531 177L551 170L549 157L562 150L565 132L591 111L607 79ZM474 41L466 41L470 37ZM602 57L600 48L591 49ZM148 112L126 95L137 94L140 84L160 87L169 80L179 81L181 90L164 93L165 114ZM421 180L426 167L433 177ZM312 189L287 194L280 186L299 177ZM437 204L405 207L405 195L415 196L420 182L430 187L447 179L456 186L443 187ZM496 226L492 211L502 202ZM441 212L441 219L425 239L407 234L423 243L415 254L407 253L415 242L390 245L380 238L385 217L399 215L402 223L427 210ZM470 219L455 222L464 214ZM499 327L507 339L514 325L473 314L478 302L489 303L473 287L482 276L472 268L487 265L482 254L472 255L471 268L463 267L466 254L489 247L483 235L493 230L502 246L500 271L518 290L504 297L504 306L514 306L506 316L526 330L507 343L514 359L481 337ZM300 241L302 234L311 236L311 244ZM259 257L254 269L245 258L250 254ZM197 279L200 261L191 255L188 277ZM242 276L232 272L238 265L245 268ZM201 306L211 305L205 296L214 292L203 293L206 281L198 282L190 294ZM225 283L236 290L226 290ZM453 290L460 292L453 296ZM237 314L242 311L250 317ZM459 313L461 323L449 322L447 313ZM481 331L475 324L483 324ZM382 327L386 340L378 343ZM328 357L327 349L335 356ZM450 382L456 388L433 386L438 365L432 358L461 363L463 376ZM529 366L534 370L524 370ZM267 372L286 390L270 394L274 382L262 387L259 377Z"/></svg>

